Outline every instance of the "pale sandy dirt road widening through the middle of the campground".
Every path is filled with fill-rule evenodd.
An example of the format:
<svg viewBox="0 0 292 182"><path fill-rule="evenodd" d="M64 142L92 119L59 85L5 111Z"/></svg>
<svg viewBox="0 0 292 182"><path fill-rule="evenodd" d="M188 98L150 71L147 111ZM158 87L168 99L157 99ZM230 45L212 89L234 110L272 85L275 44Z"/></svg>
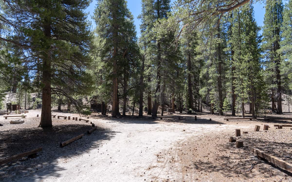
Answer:
<svg viewBox="0 0 292 182"><path fill-rule="evenodd" d="M33 117L37 112L31 112L29 116ZM252 131L257 121L226 122L223 121L223 117L213 117L212 121L209 121L210 115L198 116L198 121L194 121L194 116L181 116L185 117L181 121L177 119L90 118L90 121L99 127L92 135L87 135L76 144L69 144L63 148L55 146L47 149L44 146L44 151L40 156L30 159L27 163L20 161L1 166L0 174L6 173L6 175L0 177L0 181L134 182L231 181L230 178L237 181L261 181L264 179L253 176L251 173L230 176L228 169L232 168L218 170L216 166L207 166L203 161L209 161L210 152L214 155L218 152L216 155L220 156L222 156L220 152L225 154L220 147L230 147L231 151L228 151L230 155L234 146L228 144L228 138L234 135L234 129ZM35 121L27 120L27 123L30 121L34 125L39 122L38 118ZM1 120L0 123L3 121ZM54 120L54 122L57 121L61 120ZM64 123L58 123L58 125L53 124L59 127L65 122L68 121L64 120ZM84 131L83 129L79 132ZM6 132L11 131L6 130ZM240 149L234 149L235 152L237 150ZM46 160L41 159L42 156L46 156ZM50 159L50 156L54 157ZM232 161L230 162L233 164ZM200 164L206 166L206 169L202 169ZM221 164L219 162L217 165ZM243 169L251 167L250 164L245 165ZM268 164L263 165L268 166ZM235 162L233 167L236 168ZM277 174L269 178L272 181L291 180L291 177L289 178L278 169L273 170L277 171Z"/></svg>

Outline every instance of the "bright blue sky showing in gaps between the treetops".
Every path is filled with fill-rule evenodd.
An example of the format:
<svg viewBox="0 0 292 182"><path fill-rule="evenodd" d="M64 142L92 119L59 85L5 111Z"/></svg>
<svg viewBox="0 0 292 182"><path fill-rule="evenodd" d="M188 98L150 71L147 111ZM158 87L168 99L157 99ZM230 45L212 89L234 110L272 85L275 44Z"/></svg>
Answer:
<svg viewBox="0 0 292 182"><path fill-rule="evenodd" d="M171 0L171 3L173 3L174 0ZM283 4L285 2L288 2L288 0L284 0ZM93 0L93 2L90 4L90 6L86 9L86 12L89 13L88 15L88 20L92 22L92 28L94 28L96 25L94 21L91 19L91 15L93 15L93 11L96 5L96 1ZM263 3L255 3L254 5L254 11L255 11L255 19L258 24L258 26L263 26L263 21L264 21L264 15L265 15L265 8ZM141 12L141 1L140 0L128 0L128 8L130 9L132 15L134 16L134 21L136 25L136 31L137 31L137 36L140 36L140 20L137 19L138 15Z"/></svg>

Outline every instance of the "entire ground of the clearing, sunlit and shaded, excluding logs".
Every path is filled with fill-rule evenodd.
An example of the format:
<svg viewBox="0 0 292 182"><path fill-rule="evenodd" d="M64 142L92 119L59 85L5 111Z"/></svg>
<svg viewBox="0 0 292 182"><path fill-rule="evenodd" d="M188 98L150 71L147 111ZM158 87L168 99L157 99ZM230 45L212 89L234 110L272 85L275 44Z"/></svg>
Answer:
<svg viewBox="0 0 292 182"><path fill-rule="evenodd" d="M71 120L53 118L53 127L43 130L37 128L36 114L41 110L30 110L23 124L0 117L0 159L43 147L36 158L0 165L0 181L292 181L291 173L251 151L259 148L292 163L292 130L274 127L291 121L224 121L224 116L206 113L198 113L197 121L185 114L164 116L182 120L90 117L98 129L60 148L60 142L92 128L90 122L54 111ZM256 124L259 132L253 132ZM264 124L270 126L267 132ZM241 129L237 139L243 148L229 142L235 129Z"/></svg>

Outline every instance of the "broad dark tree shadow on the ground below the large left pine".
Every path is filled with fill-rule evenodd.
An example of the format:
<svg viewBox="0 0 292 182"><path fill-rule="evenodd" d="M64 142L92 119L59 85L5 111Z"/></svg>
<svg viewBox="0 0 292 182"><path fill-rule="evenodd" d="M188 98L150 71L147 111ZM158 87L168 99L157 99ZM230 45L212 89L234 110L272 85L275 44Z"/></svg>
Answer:
<svg viewBox="0 0 292 182"><path fill-rule="evenodd" d="M0 165L0 181L20 180L41 181L44 176L58 177L58 161L66 161L98 147L106 140L115 137L115 131L100 128L60 148L64 142L77 135L87 132L92 127L85 124L54 125L52 128L25 128L0 132L0 158L6 158L32 149L43 147L36 158L27 157ZM62 162L61 161L61 162ZM36 170L41 169L41 176L35 176ZM39 174L39 173L38 173ZM19 178L19 179L17 179Z"/></svg>

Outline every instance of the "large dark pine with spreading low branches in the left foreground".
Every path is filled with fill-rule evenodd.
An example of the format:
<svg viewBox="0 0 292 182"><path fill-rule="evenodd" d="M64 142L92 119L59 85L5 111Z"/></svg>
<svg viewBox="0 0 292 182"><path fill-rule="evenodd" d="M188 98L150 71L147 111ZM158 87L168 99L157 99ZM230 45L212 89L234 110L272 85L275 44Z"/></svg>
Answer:
<svg viewBox="0 0 292 182"><path fill-rule="evenodd" d="M80 95L91 90L91 79L85 72L91 62L88 57L91 36L84 13L89 3L87 0L3 1L4 16L0 22L12 29L0 40L21 48L23 54L19 59L27 65L35 86L42 89L41 127L52 126L52 94L73 99L55 86L66 86ZM72 80L73 85L68 86L62 77ZM77 109L82 108L80 102L73 102Z"/></svg>

